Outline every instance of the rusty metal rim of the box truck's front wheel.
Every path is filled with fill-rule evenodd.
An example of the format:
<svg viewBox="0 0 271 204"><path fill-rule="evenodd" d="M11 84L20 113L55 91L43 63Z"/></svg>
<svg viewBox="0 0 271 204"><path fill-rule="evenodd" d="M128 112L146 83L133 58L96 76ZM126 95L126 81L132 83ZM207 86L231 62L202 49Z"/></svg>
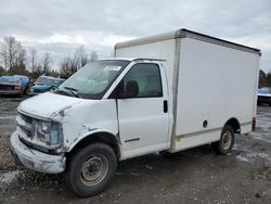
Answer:
<svg viewBox="0 0 271 204"><path fill-rule="evenodd" d="M82 165L80 179L86 186L95 186L104 179L107 171L107 160L103 155L93 155Z"/></svg>

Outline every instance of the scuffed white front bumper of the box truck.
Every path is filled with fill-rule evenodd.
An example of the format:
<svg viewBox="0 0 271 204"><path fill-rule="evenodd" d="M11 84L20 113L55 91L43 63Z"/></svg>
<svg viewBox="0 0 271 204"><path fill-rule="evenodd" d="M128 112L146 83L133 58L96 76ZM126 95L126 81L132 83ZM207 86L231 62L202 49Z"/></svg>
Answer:
<svg viewBox="0 0 271 204"><path fill-rule="evenodd" d="M15 131L11 136L11 151L27 168L46 174L60 174L65 170L66 157L51 155L30 149L21 142Z"/></svg>

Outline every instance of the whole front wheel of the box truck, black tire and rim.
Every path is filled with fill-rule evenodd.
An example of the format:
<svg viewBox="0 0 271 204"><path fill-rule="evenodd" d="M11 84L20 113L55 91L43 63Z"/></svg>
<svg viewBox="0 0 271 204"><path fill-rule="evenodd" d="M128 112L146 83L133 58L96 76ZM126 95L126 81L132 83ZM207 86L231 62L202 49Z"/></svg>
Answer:
<svg viewBox="0 0 271 204"><path fill-rule="evenodd" d="M104 143L93 143L73 156L67 179L73 192L87 197L105 190L117 168L114 150Z"/></svg>

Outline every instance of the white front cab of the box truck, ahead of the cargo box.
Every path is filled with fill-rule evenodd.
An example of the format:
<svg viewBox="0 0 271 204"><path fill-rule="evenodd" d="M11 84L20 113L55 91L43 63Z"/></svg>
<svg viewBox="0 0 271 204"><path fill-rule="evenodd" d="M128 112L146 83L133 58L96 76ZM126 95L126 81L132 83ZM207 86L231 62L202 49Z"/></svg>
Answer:
<svg viewBox="0 0 271 204"><path fill-rule="evenodd" d="M86 195L89 191L80 188L104 186L116 161L169 149L169 109L165 61L96 61L54 91L20 104L12 150L30 169L69 171L80 183L74 191ZM102 153L80 155L96 144Z"/></svg>

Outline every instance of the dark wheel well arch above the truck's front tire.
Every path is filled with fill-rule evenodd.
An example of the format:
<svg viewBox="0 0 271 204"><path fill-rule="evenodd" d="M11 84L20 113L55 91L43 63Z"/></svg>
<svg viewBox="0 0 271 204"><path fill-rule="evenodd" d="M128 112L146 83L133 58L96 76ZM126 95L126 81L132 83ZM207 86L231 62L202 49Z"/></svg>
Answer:
<svg viewBox="0 0 271 204"><path fill-rule="evenodd" d="M70 152L68 152L67 158L70 158L73 155L75 155L77 152L79 152L82 148L91 144L91 143L106 143L108 144L115 152L117 158L120 157L120 150L118 146L118 141L114 135L107 133L107 132L98 132L90 135L86 138L83 138L81 141L79 141Z"/></svg>

